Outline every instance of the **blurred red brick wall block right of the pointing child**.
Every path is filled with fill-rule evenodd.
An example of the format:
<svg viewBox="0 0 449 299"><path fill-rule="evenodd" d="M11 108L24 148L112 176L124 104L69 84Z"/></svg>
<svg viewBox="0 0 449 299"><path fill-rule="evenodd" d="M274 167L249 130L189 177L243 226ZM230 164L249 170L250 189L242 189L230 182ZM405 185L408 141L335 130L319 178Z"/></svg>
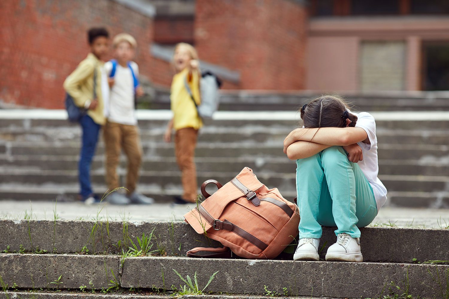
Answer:
<svg viewBox="0 0 449 299"><path fill-rule="evenodd" d="M224 88L303 89L306 11L294 0L196 0L200 59L239 70Z"/></svg>

